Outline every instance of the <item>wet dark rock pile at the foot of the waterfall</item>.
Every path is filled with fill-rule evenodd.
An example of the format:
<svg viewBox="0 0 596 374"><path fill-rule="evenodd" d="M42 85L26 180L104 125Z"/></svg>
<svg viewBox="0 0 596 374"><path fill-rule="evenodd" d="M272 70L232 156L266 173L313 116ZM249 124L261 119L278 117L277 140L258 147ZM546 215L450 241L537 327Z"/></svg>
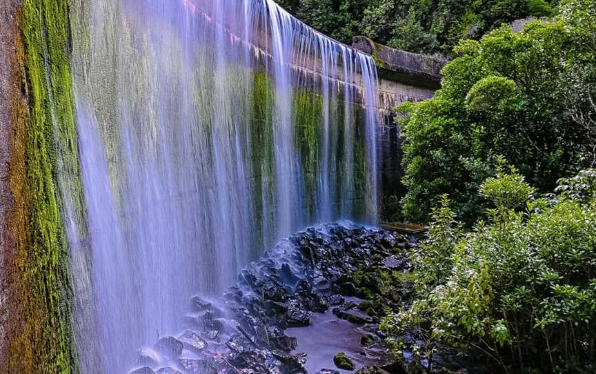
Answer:
<svg viewBox="0 0 596 374"><path fill-rule="evenodd" d="M355 282L352 275L375 266L407 268L401 249L410 242L405 235L339 224L292 235L242 270L221 299L193 297L186 331L141 349L139 368L130 374L307 373L308 357L292 353L297 341L286 335L286 328L308 326L312 313L329 308L339 318L366 326L370 334L361 342L365 348L376 345L378 352L383 339L375 319L346 300L366 293L361 279ZM349 365L342 361L342 366ZM359 371L383 372L369 366Z"/></svg>

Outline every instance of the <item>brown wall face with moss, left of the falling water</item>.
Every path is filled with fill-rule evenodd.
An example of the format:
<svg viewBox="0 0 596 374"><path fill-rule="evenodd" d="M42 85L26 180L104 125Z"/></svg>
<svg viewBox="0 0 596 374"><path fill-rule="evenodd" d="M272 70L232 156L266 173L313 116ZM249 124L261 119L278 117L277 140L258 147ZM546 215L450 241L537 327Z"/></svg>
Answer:
<svg viewBox="0 0 596 374"><path fill-rule="evenodd" d="M0 0L0 371L72 373L57 187L78 170L66 0Z"/></svg>

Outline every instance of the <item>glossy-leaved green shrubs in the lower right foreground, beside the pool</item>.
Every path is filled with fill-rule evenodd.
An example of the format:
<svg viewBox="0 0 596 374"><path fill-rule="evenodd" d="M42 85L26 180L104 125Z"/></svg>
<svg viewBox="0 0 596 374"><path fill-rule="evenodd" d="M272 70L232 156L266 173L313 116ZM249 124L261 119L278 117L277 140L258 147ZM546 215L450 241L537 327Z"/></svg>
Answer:
<svg viewBox="0 0 596 374"><path fill-rule="evenodd" d="M596 173L534 199L499 161L480 195L488 221L464 233L444 197L410 253L416 297L381 326L419 359L449 347L484 353L506 373L596 370ZM413 346L403 337L415 331ZM407 336L407 335L406 335Z"/></svg>

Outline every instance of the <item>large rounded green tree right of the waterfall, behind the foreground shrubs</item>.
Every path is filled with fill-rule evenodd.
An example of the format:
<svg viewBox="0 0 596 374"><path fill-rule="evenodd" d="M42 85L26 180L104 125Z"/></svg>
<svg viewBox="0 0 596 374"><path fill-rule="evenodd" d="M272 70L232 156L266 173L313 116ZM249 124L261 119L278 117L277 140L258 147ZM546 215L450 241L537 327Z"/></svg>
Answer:
<svg viewBox="0 0 596 374"><path fill-rule="evenodd" d="M596 160L596 2L562 1L552 21L504 26L466 40L433 99L398 107L404 143L406 217L425 221L448 193L473 222L495 155L544 192Z"/></svg>

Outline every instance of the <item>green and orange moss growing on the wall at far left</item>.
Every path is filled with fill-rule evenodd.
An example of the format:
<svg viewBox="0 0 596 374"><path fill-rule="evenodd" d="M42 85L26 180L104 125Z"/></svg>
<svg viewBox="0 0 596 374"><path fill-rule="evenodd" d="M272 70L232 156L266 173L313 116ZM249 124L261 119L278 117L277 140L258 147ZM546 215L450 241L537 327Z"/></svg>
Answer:
<svg viewBox="0 0 596 374"><path fill-rule="evenodd" d="M17 45L28 108L14 120L14 149L22 150L22 158L11 159L15 216L22 217L12 226L19 231L13 282L20 319L10 346L10 372L74 373L72 279L57 188L59 173L79 175L68 4L23 0L20 16L23 43ZM80 178L69 180L72 211L82 223Z"/></svg>

